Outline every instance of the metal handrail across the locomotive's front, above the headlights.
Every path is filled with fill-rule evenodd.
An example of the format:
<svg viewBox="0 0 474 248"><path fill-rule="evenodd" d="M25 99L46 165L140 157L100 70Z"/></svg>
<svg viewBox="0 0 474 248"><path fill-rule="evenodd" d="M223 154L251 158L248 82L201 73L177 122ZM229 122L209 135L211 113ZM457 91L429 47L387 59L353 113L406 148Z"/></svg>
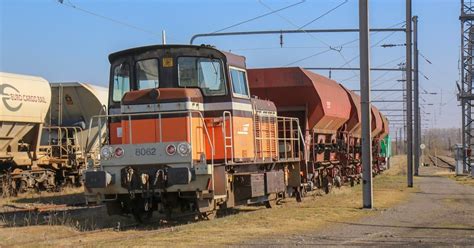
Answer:
<svg viewBox="0 0 474 248"><path fill-rule="evenodd" d="M207 142L209 143L209 146L211 148L211 165L214 165L214 156L215 156L215 150L214 150L214 144L212 143L211 136L209 135L209 130L207 130L206 122L204 120L204 116L200 111L196 110L183 110L183 111L166 111L166 112L147 112L147 113L128 113L128 114L105 114L105 115L95 115L91 117L91 121L89 122L89 132L88 132L88 137L90 136L91 129L92 129L92 124L94 123L94 119L97 119L98 127L99 130L102 129L102 122L101 119L106 119L106 123L108 122L109 118L121 118L121 117L126 117L128 119L128 129L129 129L129 144L133 144L132 141L132 128L131 128L131 120L132 117L135 116L150 116L150 115L156 115L158 116L159 123L160 123L160 142L163 142L163 136L162 136L162 126L161 126L161 117L163 115L171 115L171 114L189 114L192 116L192 114L198 114L199 120L202 124L202 127L204 129L204 132L206 134ZM191 125L188 125L189 128L191 128ZM107 126L105 127L106 129L108 128ZM192 132L192 131L191 131ZM99 142L102 140L102 135L101 132L99 131ZM192 143L192 139L190 139L190 143ZM106 140L106 144L109 144L109 139ZM205 149L205 148L204 148Z"/></svg>

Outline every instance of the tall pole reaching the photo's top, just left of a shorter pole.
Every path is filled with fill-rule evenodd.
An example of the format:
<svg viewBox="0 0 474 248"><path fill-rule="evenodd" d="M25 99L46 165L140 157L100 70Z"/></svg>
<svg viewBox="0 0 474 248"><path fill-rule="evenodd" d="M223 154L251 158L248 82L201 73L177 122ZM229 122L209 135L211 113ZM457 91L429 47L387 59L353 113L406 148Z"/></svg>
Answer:
<svg viewBox="0 0 474 248"><path fill-rule="evenodd" d="M413 113L412 113L412 50L411 0L406 0L406 78L407 78L407 186L413 187Z"/></svg>

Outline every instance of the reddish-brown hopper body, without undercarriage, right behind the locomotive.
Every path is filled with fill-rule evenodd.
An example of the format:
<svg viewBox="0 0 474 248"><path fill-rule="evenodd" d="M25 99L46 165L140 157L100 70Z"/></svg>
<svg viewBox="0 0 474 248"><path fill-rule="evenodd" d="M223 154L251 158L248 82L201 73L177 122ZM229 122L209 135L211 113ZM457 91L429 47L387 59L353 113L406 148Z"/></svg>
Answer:
<svg viewBox="0 0 474 248"><path fill-rule="evenodd" d="M334 80L299 67L249 69L248 79L252 94L279 111L306 111L309 130L335 133L349 120L349 97Z"/></svg>

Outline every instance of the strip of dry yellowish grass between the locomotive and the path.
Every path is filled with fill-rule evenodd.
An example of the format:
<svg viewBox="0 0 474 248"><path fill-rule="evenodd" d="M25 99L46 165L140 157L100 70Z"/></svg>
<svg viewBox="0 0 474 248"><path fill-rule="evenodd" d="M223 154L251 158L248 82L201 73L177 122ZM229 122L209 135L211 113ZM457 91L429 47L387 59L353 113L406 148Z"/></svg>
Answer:
<svg viewBox="0 0 474 248"><path fill-rule="evenodd" d="M160 229L80 232L69 226L27 226L0 229L0 244L24 246L172 246L229 245L258 239L311 232L338 221L378 214L408 197L403 157L374 181L374 211L361 210L361 187L343 187L324 197L309 196L302 203L287 199L283 206L241 208L240 213L192 224ZM150 230L151 229L151 230Z"/></svg>

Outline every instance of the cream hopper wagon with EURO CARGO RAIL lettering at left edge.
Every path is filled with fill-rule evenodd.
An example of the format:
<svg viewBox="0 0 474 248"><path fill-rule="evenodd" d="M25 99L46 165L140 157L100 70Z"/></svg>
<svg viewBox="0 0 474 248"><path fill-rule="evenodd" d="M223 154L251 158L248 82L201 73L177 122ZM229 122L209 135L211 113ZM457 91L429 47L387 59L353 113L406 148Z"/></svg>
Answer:
<svg viewBox="0 0 474 248"><path fill-rule="evenodd" d="M49 82L5 72L0 72L0 80L1 191L3 195L14 194L17 184L48 187L54 184L54 172L41 168L45 161L38 137L51 103Z"/></svg>

